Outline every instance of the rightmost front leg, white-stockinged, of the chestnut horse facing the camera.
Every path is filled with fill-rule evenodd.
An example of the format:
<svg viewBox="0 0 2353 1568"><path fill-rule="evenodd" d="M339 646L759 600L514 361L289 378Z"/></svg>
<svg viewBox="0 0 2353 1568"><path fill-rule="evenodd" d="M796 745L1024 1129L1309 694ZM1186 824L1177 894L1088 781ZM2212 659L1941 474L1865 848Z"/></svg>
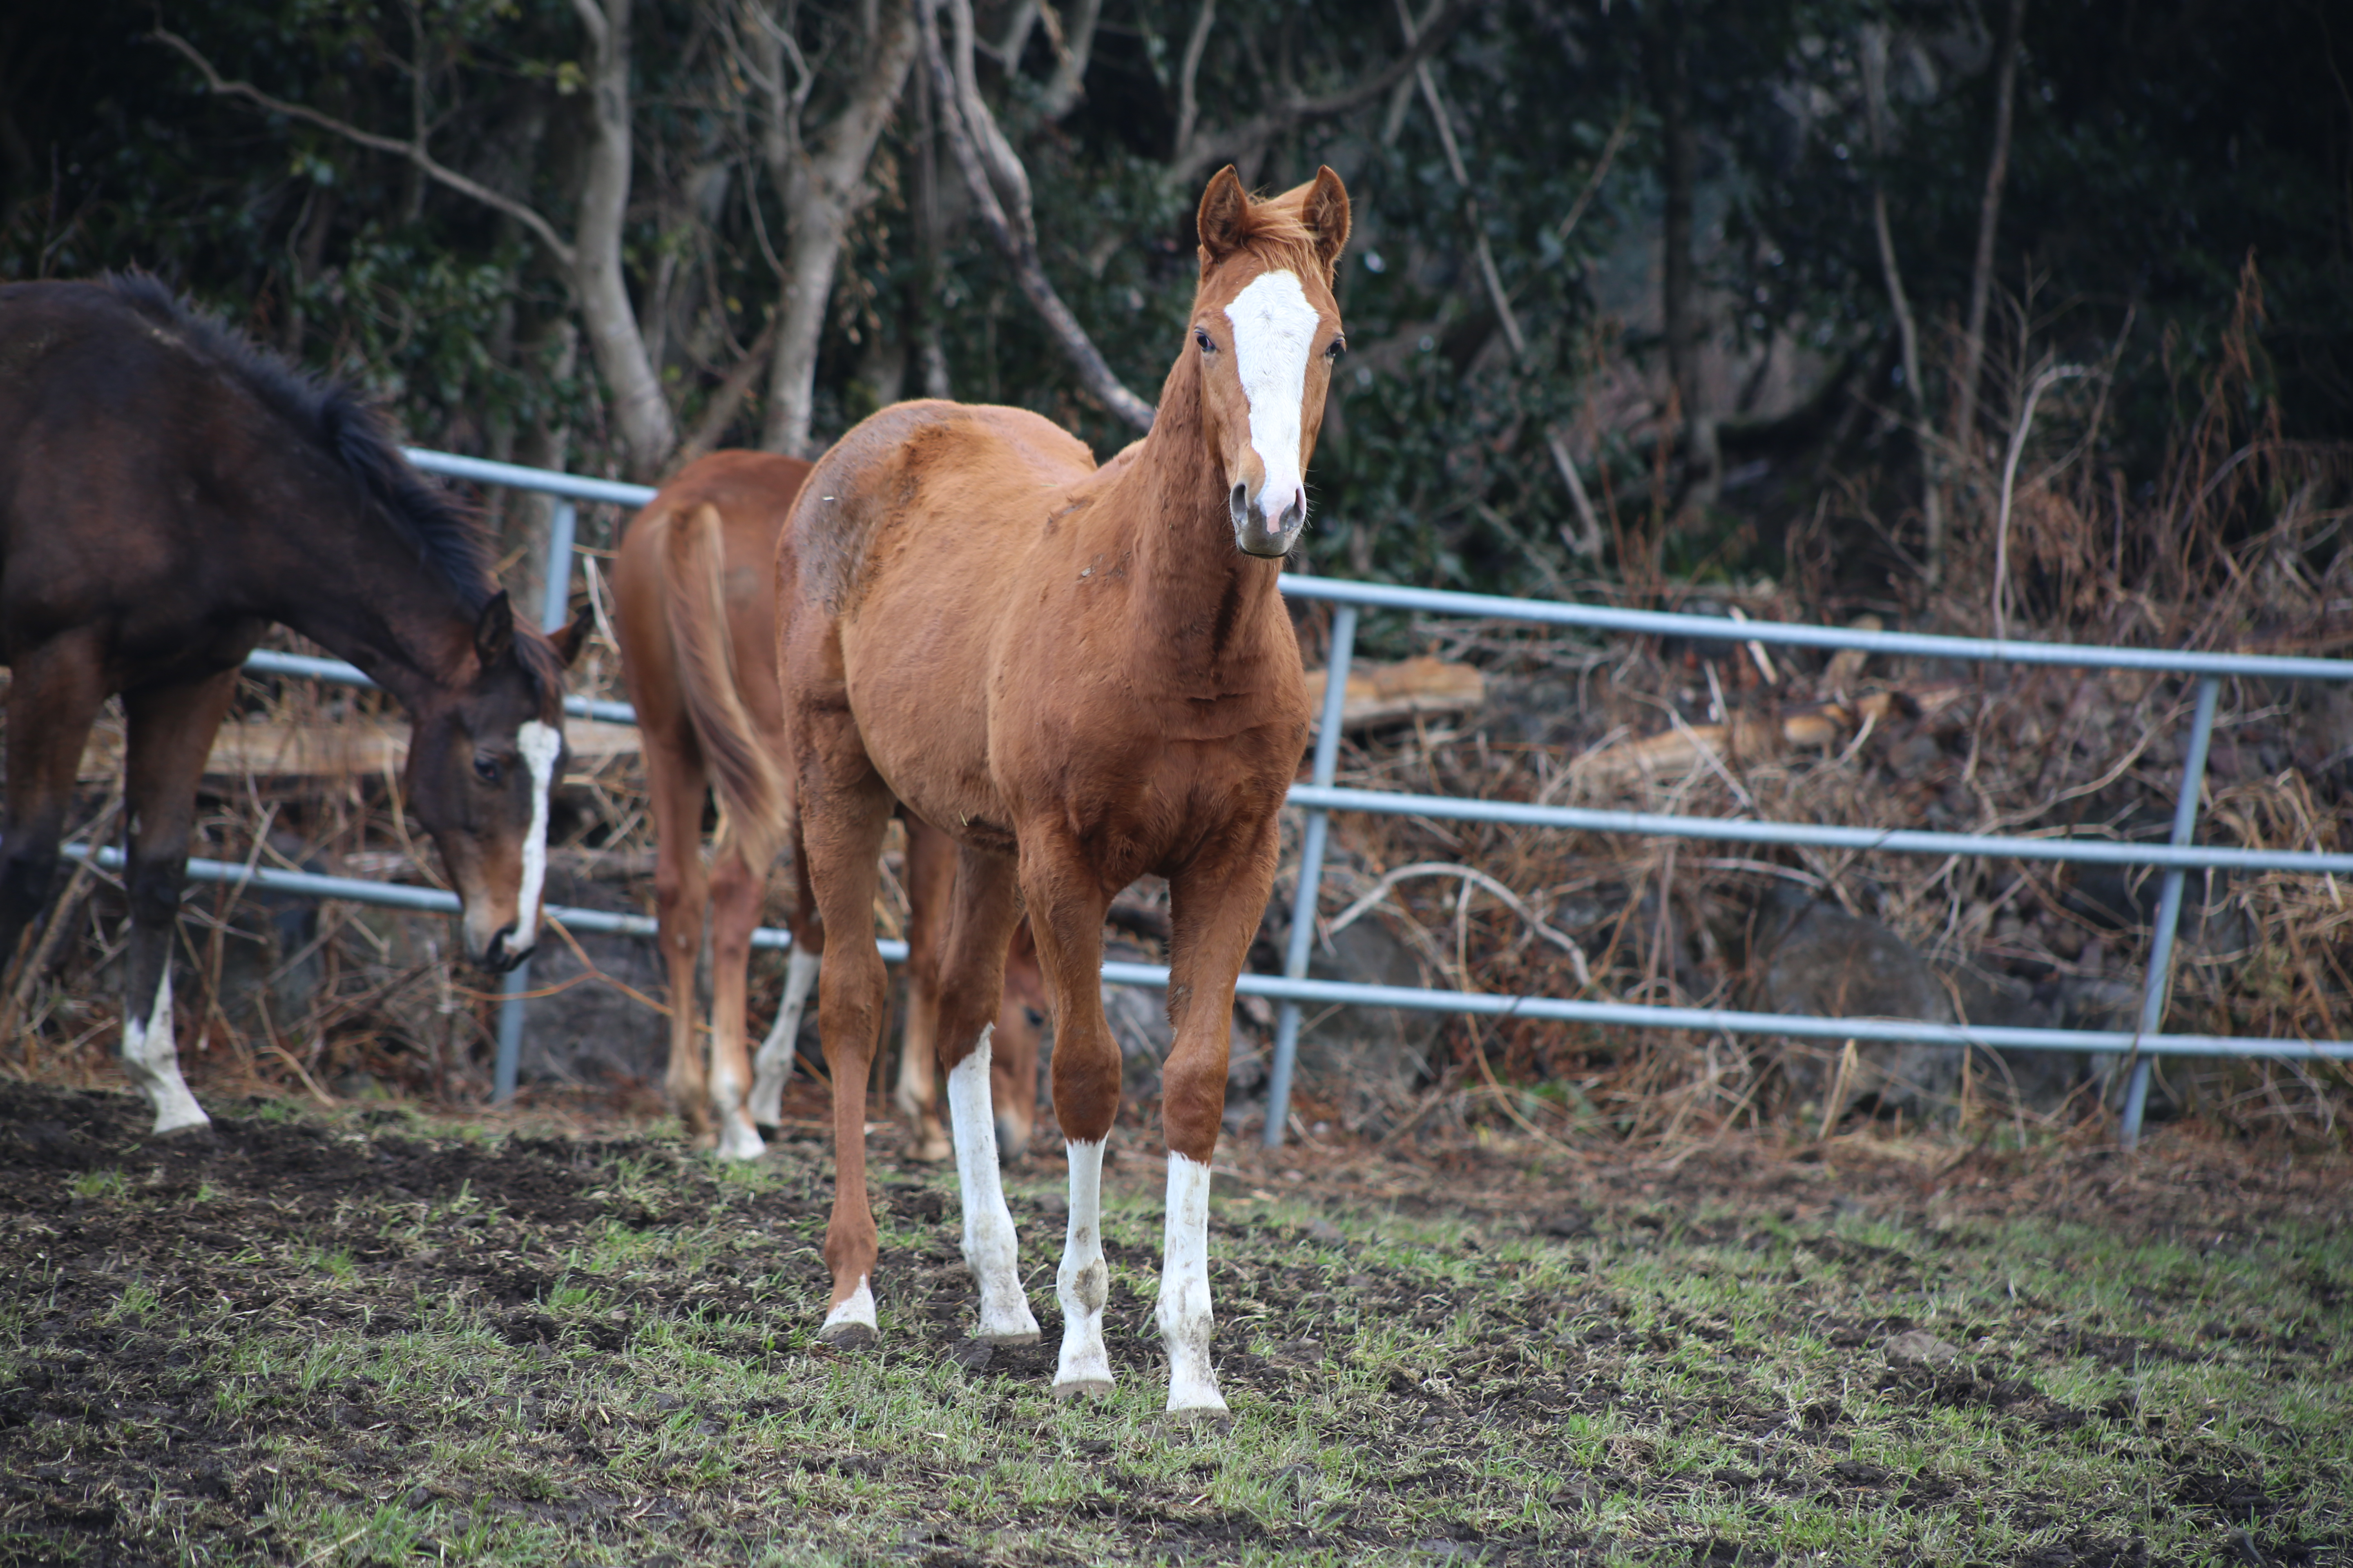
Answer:
<svg viewBox="0 0 2353 1568"><path fill-rule="evenodd" d="M1209 1366L1209 1161L1226 1114L1233 980L1275 882L1275 820L1247 827L1169 877L1169 1023L1160 1067L1160 1128L1169 1194L1160 1262L1160 1335L1169 1352L1169 1410L1226 1408Z"/></svg>

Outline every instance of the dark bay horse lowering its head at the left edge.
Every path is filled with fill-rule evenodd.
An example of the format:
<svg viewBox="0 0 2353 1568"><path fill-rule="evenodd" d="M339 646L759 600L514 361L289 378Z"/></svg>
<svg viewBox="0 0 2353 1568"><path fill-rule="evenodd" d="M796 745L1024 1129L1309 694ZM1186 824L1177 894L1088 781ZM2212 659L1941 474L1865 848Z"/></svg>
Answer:
<svg viewBox="0 0 2353 1568"><path fill-rule="evenodd" d="M301 376L148 277L0 287L0 966L49 898L89 724L129 724L122 1067L155 1131L202 1126L172 1037L172 919L195 783L268 623L412 717L407 792L464 900L464 950L532 952L560 644L518 628L487 541L346 388Z"/></svg>

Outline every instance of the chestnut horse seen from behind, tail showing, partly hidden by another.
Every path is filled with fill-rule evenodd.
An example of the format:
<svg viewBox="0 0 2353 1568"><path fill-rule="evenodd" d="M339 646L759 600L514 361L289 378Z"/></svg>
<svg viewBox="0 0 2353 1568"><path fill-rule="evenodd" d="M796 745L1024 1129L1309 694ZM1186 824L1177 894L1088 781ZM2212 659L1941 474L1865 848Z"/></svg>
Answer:
<svg viewBox="0 0 2353 1568"><path fill-rule="evenodd" d="M746 969L767 867L791 837L793 790L784 769L784 698L776 691L776 534L809 465L767 451L715 451L682 468L631 520L612 564L621 672L638 708L654 818L654 912L671 973L671 1107L699 1143L727 1159L758 1159L760 1128L776 1126L793 1037L824 954L807 884L793 917L784 1006L748 1060ZM704 790L727 832L704 870ZM795 860L795 882L800 856ZM955 849L908 823L908 1051L899 1107L915 1154L944 1159L929 1074L936 1016L939 924L955 882ZM711 926L711 1048L696 1039L694 964ZM1026 985L1024 985L1026 980ZM1007 980L1000 1100L1007 1138L1028 1143L1038 1103L1042 1006L1035 964ZM1042 1013L1040 1013L1042 1018ZM1019 1107L1019 1110L1012 1110Z"/></svg>

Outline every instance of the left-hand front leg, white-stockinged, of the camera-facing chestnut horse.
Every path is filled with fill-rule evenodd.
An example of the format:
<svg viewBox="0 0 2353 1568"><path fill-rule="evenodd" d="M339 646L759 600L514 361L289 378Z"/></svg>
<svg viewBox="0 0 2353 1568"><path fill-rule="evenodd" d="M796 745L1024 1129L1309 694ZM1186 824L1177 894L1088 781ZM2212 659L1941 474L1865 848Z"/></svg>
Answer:
<svg viewBox="0 0 2353 1568"><path fill-rule="evenodd" d="M1075 844L1047 835L1021 842L1021 893L1028 900L1038 971L1054 1009L1054 1119L1071 1159L1071 1227L1064 1234L1054 1295L1061 1302L1061 1361L1054 1396L1111 1392L1104 1347L1104 1143L1120 1114L1120 1046L1104 1018L1104 898L1094 867Z"/></svg>

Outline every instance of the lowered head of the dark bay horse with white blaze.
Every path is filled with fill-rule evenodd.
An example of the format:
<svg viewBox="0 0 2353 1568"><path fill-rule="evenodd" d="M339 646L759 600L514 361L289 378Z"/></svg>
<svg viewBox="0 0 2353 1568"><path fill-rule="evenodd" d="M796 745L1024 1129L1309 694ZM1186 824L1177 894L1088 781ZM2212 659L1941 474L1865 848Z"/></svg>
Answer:
<svg viewBox="0 0 2353 1568"><path fill-rule="evenodd" d="M416 712L409 804L464 903L466 959L494 973L539 940L548 790L565 757L562 665L584 635L576 623L553 639L518 637L506 595L492 595L473 628L473 679Z"/></svg>

